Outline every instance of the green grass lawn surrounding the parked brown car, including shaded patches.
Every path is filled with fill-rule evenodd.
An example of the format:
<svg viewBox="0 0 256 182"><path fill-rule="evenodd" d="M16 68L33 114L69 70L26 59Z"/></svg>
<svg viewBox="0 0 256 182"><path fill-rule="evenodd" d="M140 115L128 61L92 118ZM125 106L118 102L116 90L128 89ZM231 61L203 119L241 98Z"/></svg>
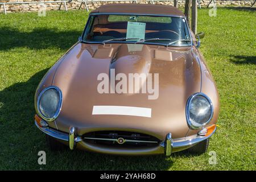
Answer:
<svg viewBox="0 0 256 182"><path fill-rule="evenodd" d="M85 151L51 152L34 125L34 93L40 79L74 43L88 13L47 11L0 14L0 169L70 170L255 170L256 169L256 11L199 10L198 31L205 32L201 52L220 94L220 117L209 151L217 164L200 156L109 156ZM38 151L47 164L38 164Z"/></svg>

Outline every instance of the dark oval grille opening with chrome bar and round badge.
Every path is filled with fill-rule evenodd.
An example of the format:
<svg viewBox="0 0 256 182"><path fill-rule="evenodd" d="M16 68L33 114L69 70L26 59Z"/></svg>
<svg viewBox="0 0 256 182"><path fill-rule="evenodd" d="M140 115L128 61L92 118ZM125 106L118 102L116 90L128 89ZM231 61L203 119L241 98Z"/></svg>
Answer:
<svg viewBox="0 0 256 182"><path fill-rule="evenodd" d="M93 144L115 147L152 147L160 140L151 135L131 131L94 131L83 135L83 140Z"/></svg>

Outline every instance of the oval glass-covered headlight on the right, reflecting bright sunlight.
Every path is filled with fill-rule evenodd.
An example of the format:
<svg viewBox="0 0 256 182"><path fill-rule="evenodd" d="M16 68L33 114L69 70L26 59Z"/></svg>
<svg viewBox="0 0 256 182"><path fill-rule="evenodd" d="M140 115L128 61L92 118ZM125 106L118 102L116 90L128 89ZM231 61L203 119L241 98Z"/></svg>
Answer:
<svg viewBox="0 0 256 182"><path fill-rule="evenodd" d="M193 94L188 99L186 115L189 126L192 129L200 129L212 119L212 101L203 93Z"/></svg>

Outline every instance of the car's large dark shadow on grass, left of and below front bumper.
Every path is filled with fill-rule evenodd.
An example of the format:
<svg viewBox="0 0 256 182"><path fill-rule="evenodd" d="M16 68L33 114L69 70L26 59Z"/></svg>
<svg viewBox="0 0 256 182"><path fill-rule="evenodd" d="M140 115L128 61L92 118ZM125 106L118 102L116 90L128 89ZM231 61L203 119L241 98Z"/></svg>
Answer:
<svg viewBox="0 0 256 182"><path fill-rule="evenodd" d="M34 126L34 94L44 69L26 82L19 82L0 91L1 169L63 170L166 170L172 157L114 156L80 150L52 152L45 135ZM38 164L38 152L46 151L47 165Z"/></svg>

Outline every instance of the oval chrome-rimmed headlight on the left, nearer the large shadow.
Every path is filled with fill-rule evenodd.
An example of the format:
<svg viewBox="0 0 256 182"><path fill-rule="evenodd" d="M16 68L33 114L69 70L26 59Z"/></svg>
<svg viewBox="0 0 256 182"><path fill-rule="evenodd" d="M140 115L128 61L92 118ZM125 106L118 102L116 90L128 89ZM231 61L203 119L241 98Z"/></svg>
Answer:
<svg viewBox="0 0 256 182"><path fill-rule="evenodd" d="M37 110L40 117L46 121L53 121L60 113L62 95L59 88L49 86L38 97Z"/></svg>

